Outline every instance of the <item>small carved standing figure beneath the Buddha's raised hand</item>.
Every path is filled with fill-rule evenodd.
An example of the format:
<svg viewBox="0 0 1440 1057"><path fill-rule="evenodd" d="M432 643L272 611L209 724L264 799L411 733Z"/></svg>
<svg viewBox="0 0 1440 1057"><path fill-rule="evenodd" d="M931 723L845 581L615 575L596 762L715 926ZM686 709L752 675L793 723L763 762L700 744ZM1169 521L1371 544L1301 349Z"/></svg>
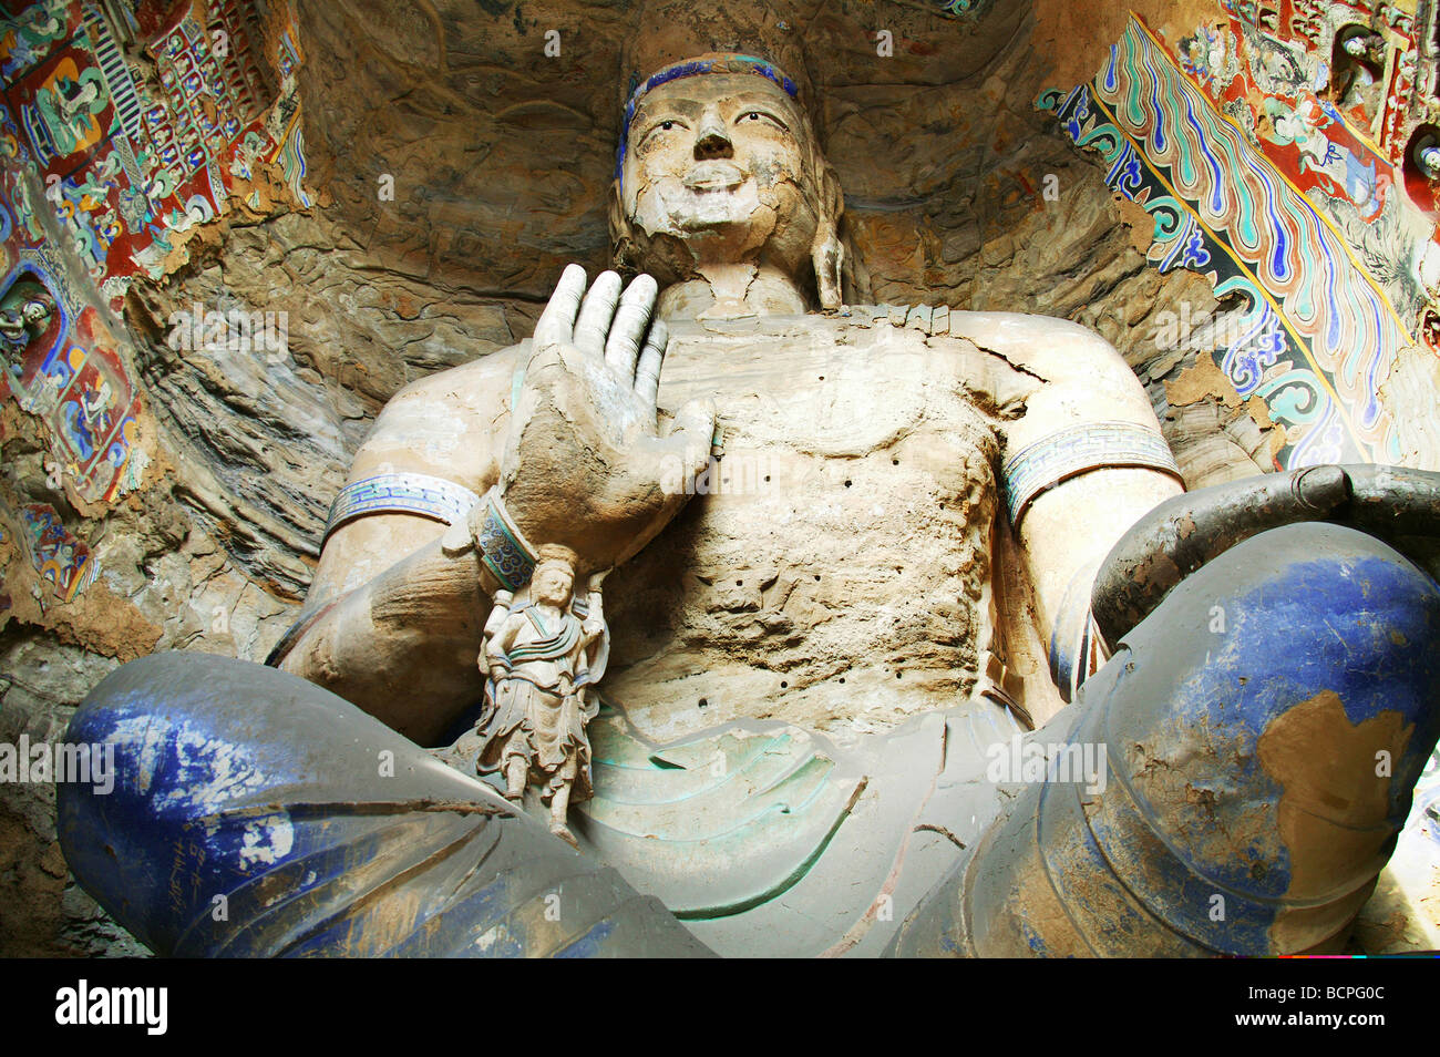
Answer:
<svg viewBox="0 0 1440 1057"><path fill-rule="evenodd" d="M576 562L569 547L543 546L520 598L495 596L480 654L480 668L490 677L487 709L477 724L484 740L480 768L504 773L510 801L520 801L527 783L540 786L550 804L550 832L570 844L570 801L590 796L585 724L599 701L586 691L599 677L596 662L606 637L605 573L590 577L589 605L582 606L575 598Z"/></svg>

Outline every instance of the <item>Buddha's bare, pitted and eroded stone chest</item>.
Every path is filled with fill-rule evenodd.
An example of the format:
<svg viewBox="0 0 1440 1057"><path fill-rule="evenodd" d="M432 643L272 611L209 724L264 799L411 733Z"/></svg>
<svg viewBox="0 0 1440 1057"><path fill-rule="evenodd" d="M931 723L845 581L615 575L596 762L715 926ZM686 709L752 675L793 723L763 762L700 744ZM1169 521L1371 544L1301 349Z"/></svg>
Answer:
<svg viewBox="0 0 1440 1057"><path fill-rule="evenodd" d="M816 317L675 331L661 405L714 399L723 454L609 582L608 693L657 734L953 703L988 634L985 354Z"/></svg>

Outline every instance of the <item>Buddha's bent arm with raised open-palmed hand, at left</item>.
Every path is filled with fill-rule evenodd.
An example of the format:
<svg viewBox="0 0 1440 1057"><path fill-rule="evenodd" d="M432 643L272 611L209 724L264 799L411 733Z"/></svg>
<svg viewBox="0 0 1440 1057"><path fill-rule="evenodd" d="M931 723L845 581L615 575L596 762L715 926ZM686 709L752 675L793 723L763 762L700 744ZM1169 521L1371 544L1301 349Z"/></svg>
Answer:
<svg viewBox="0 0 1440 1057"><path fill-rule="evenodd" d="M340 524L281 667L431 742L480 694L490 599L528 579L527 543L569 546L593 573L674 517L687 497L665 490L667 468L698 472L714 410L693 402L658 432L667 331L651 325L655 291L642 275L622 294L613 272L586 289L572 265L531 341L425 379L386 406L350 484L439 478L426 487L442 497L459 487L462 513L436 514L448 531L395 513ZM475 550L482 537L488 566Z"/></svg>

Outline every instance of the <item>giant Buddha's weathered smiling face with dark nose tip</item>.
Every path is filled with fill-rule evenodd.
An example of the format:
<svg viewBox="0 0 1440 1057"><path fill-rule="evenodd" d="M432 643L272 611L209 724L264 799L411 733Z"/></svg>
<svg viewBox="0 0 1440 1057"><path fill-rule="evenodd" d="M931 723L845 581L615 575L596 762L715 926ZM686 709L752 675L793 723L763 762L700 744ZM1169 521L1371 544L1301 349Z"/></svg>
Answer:
<svg viewBox="0 0 1440 1057"><path fill-rule="evenodd" d="M769 79L681 78L636 107L621 204L639 240L668 246L658 256L672 271L765 262L796 274L821 223L816 157L801 109Z"/></svg>

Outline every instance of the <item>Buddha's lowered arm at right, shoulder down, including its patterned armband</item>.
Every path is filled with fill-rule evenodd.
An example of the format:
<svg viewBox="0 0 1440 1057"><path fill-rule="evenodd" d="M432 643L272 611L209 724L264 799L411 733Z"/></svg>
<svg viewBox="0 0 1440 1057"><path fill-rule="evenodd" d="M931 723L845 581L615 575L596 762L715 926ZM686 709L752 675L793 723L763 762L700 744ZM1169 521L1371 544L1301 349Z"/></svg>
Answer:
<svg viewBox="0 0 1440 1057"><path fill-rule="evenodd" d="M960 315L966 337L1037 379L1025 413L1005 423L1004 459L1048 642L1067 606L1089 605L1094 569L1126 528L1184 487L1161 468L1174 462L1155 412L1104 338L1038 315Z"/></svg>

